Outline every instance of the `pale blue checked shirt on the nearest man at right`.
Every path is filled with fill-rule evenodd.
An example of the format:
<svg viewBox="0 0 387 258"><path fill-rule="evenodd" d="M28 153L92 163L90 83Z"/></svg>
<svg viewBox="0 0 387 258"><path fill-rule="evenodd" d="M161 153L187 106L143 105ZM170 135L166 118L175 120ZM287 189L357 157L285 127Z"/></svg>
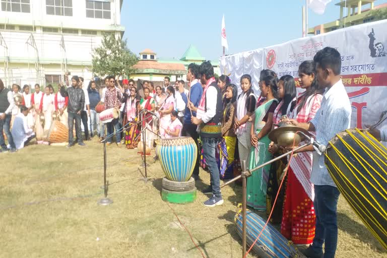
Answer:
<svg viewBox="0 0 387 258"><path fill-rule="evenodd" d="M336 134L348 129L351 124L351 103L343 82L340 80L322 96L321 107L310 123L316 130L316 141L328 145ZM325 156L318 150L313 152L312 173L310 182L316 185L335 186L327 167L324 164Z"/></svg>

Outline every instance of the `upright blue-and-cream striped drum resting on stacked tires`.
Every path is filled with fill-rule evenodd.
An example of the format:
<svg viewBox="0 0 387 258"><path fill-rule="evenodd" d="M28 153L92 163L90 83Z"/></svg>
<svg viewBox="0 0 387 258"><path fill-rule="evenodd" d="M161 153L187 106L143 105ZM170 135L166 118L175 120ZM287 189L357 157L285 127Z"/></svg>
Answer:
<svg viewBox="0 0 387 258"><path fill-rule="evenodd" d="M198 156L198 148L192 138L161 139L156 152L167 179L178 182L188 181Z"/></svg>

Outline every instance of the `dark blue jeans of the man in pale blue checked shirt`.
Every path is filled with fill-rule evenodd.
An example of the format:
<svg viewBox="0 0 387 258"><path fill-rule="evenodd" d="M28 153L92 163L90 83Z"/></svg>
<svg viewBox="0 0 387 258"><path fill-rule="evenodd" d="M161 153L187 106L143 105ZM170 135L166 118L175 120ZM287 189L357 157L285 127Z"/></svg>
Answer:
<svg viewBox="0 0 387 258"><path fill-rule="evenodd" d="M314 185L314 212L316 229L312 248L322 252L325 242L324 258L335 257L337 247L337 201L340 191L331 185Z"/></svg>

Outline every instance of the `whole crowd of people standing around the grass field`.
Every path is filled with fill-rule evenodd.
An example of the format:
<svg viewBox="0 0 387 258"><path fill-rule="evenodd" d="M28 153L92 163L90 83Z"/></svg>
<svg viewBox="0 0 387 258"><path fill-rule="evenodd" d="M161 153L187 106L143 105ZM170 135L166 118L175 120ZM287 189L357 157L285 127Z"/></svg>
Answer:
<svg viewBox="0 0 387 258"><path fill-rule="evenodd" d="M210 185L203 192L211 193L204 205L214 207L223 204L220 179L234 176L237 161L246 160L248 168L253 169L296 147L278 146L269 139L269 133L281 123L304 128L324 145L349 128L351 105L340 70L340 53L326 47L313 60L300 64L298 81L304 89L301 94L297 94L292 76L278 78L272 70L263 70L259 82L253 82L248 74L243 75L238 94L238 87L228 76L215 79L209 61L200 66L189 64L188 87L183 80L172 85L169 77L155 88L148 81L137 87L132 79L122 80L121 85L114 76L108 76L105 87L97 89L96 82L91 81L84 88L83 78L73 76L72 85L66 87L62 83L56 94L50 86L42 93L39 85L35 85L33 94L24 86L19 108L10 103L15 94L20 94L20 87L14 85L11 92L0 81L0 130L4 130L11 151L33 137L31 128L39 119L37 114L44 116L43 133L46 134L52 113L56 113L69 127L69 147L74 144L74 120L79 145L84 145L81 121L86 140L96 132L100 140L111 145L114 135L117 146L122 142L127 149L137 147L144 130L145 144L150 148L159 138L189 136L199 151L192 177L200 179L199 167L203 161L210 172ZM253 90L254 83L259 85L259 94ZM119 117L100 122L104 119L97 111L101 103L105 110L119 110ZM12 116L15 134L14 128L12 134L9 130ZM3 135L0 144L6 151ZM281 233L295 244L311 244L306 249L308 257L322 257L323 243L324 257L334 257L339 191L324 165L324 155L312 146L297 151L290 159L285 176L288 162L284 158L247 178L247 205L270 214L280 191L272 223L279 223ZM282 180L284 186L279 189Z"/></svg>

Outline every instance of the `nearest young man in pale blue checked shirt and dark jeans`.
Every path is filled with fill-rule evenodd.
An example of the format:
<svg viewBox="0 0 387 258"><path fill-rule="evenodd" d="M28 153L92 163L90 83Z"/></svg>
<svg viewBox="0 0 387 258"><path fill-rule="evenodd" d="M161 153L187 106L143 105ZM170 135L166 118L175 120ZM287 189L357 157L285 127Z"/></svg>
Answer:
<svg viewBox="0 0 387 258"><path fill-rule="evenodd" d="M341 55L332 47L326 47L316 53L316 75L320 88L326 88L321 107L308 123L289 120L307 131L316 132L316 141L328 145L336 134L346 130L351 122L351 104L340 78ZM298 151L314 151L309 145ZM333 258L337 247L337 202L340 192L337 189L327 167L324 164L324 153L315 150L310 181L314 184L314 211L316 229L313 244L305 249L304 254L311 258ZM325 243L325 252L322 244Z"/></svg>

